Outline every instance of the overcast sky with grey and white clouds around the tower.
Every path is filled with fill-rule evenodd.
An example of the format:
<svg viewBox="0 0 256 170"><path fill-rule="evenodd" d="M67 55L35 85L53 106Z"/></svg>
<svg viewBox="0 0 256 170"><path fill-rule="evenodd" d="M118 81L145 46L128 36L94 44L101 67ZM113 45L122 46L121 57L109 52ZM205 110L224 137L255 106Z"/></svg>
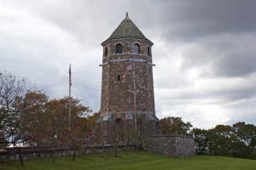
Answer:
<svg viewBox="0 0 256 170"><path fill-rule="evenodd" d="M152 42L156 115L256 125L256 1L0 0L0 72L99 111L102 46L125 13Z"/></svg>

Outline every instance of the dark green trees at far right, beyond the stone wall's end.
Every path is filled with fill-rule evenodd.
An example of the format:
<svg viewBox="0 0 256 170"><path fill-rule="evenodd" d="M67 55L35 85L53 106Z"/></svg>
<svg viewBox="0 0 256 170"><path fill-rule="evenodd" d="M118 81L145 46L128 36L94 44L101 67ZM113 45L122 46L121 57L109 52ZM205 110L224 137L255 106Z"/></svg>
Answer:
<svg viewBox="0 0 256 170"><path fill-rule="evenodd" d="M197 155L233 156L256 159L256 127L237 122L205 130L194 128Z"/></svg>

